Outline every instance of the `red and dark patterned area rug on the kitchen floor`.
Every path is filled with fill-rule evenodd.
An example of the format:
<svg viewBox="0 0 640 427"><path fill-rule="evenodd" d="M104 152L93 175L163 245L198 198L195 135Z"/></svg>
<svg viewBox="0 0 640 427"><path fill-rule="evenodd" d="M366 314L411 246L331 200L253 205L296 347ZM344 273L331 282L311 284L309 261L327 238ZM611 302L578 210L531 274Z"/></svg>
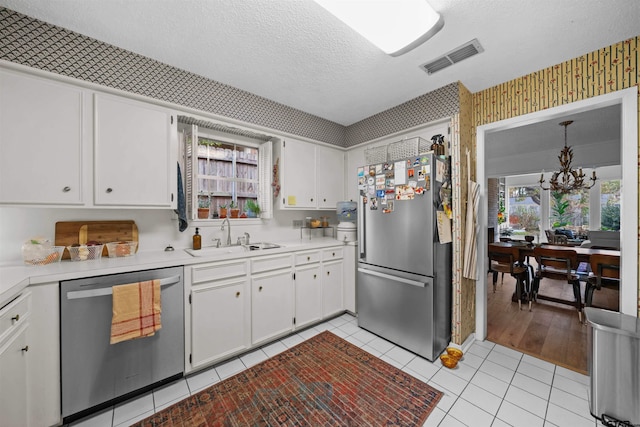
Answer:
<svg viewBox="0 0 640 427"><path fill-rule="evenodd" d="M135 426L422 426L442 392L325 331Z"/></svg>

